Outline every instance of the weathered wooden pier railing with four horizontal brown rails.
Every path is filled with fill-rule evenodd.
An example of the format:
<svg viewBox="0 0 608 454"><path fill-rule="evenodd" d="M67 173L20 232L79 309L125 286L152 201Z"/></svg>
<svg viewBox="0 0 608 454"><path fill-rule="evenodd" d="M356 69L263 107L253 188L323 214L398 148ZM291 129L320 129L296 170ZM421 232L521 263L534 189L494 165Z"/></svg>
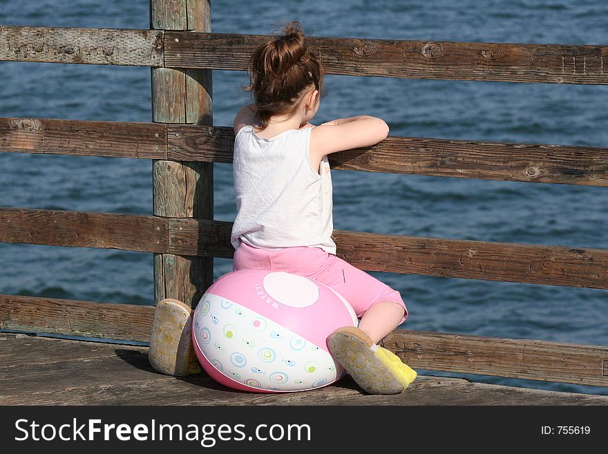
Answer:
<svg viewBox="0 0 608 454"><path fill-rule="evenodd" d="M154 17L153 23L167 22L158 11ZM173 28L181 30L0 26L0 59L245 70L251 50L267 39L187 31L196 27L186 19ZM608 46L321 37L307 42L321 55L327 74L608 84ZM158 82L161 75L155 77ZM150 123L0 118L0 151L232 162L232 129L209 126L210 109L199 108L199 118L188 109L179 121L171 121L170 109L157 110ZM390 136L376 146L334 153L330 164L341 170L608 186L608 149L584 146ZM209 168L204 169L209 183ZM202 257L208 266L213 257L231 258L234 249L232 224L209 216L212 191L206 197L207 214L189 217L1 208L0 241ZM338 230L333 236L338 256L368 271L608 288L605 249ZM175 276L184 278L183 270ZM163 294L156 287L155 278L158 302ZM0 328L5 330L146 342L152 315L151 306L0 295ZM602 346L409 330L393 332L384 344L415 368L608 386L608 348Z"/></svg>

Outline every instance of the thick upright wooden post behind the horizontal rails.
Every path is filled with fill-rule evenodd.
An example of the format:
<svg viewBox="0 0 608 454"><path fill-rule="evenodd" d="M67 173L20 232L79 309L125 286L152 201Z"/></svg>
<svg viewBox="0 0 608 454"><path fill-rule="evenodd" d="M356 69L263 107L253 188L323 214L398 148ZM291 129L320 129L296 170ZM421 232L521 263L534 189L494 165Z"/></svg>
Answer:
<svg viewBox="0 0 608 454"><path fill-rule="evenodd" d="M211 31L211 0L151 0L150 27ZM151 68L152 121L213 125L211 70ZM152 161L153 212L168 218L213 219L213 163ZM213 282L213 258L154 254L155 304L191 307Z"/></svg>

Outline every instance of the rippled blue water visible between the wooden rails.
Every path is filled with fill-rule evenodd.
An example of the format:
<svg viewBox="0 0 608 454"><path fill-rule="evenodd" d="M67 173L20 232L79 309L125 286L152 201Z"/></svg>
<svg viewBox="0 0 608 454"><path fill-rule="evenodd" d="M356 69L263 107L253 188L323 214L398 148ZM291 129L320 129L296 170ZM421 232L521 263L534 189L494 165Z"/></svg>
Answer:
<svg viewBox="0 0 608 454"><path fill-rule="evenodd" d="M248 6L249 5L249 6ZM215 32L607 45L603 0L213 1ZM3 25L148 28L146 0L0 0ZM149 68L0 62L0 116L151 121ZM214 71L213 115L249 102L245 73ZM608 146L607 86L327 76L316 124L375 115L391 135ZM313 121L314 123L315 121ZM151 160L0 153L0 206L152 214ZM234 220L231 166L215 164L215 218ZM608 249L607 188L333 171L334 227ZM0 293L153 304L152 254L0 243ZM217 277L231 260L216 258ZM608 345L605 290L371 273L401 292L411 330ZM606 388L460 375L509 386Z"/></svg>

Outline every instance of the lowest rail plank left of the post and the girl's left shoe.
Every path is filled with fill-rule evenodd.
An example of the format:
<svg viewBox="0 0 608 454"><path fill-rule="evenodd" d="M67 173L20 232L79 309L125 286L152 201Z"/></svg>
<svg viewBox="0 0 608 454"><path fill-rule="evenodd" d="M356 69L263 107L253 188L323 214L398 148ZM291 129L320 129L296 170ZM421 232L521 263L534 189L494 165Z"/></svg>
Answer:
<svg viewBox="0 0 608 454"><path fill-rule="evenodd" d="M153 315L153 306L0 294L2 330L149 342Z"/></svg>

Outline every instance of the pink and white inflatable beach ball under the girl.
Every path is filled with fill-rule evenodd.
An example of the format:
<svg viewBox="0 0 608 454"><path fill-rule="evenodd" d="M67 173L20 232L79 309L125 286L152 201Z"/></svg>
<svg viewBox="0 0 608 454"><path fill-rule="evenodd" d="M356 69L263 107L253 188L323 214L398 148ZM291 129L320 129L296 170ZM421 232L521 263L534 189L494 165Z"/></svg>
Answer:
<svg viewBox="0 0 608 454"><path fill-rule="evenodd" d="M220 277L193 316L194 350L220 384L253 392L319 388L343 376L327 336L357 326L350 304L314 279L242 269Z"/></svg>

